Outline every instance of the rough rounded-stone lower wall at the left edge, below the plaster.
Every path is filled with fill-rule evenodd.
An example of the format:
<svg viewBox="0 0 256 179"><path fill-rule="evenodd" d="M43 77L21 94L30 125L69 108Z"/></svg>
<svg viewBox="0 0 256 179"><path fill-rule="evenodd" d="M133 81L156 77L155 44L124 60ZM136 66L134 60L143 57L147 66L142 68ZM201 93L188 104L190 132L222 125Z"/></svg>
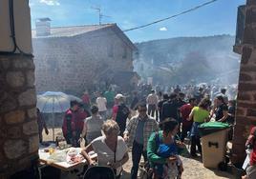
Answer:
<svg viewBox="0 0 256 179"><path fill-rule="evenodd" d="M38 127L32 56L0 54L0 178L32 169Z"/></svg>

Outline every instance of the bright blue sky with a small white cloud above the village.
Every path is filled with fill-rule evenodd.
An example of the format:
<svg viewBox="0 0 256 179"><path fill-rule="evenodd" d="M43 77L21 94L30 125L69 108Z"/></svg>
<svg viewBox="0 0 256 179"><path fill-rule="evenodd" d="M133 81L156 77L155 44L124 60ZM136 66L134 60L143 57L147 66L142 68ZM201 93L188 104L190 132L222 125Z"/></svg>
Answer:
<svg viewBox="0 0 256 179"><path fill-rule="evenodd" d="M138 27L188 10L209 0L30 0L32 28L34 20L50 17L52 27L117 23L121 30ZM237 7L245 0L218 0L202 9L169 19L153 26L126 32L133 42L181 36L235 34Z"/></svg>

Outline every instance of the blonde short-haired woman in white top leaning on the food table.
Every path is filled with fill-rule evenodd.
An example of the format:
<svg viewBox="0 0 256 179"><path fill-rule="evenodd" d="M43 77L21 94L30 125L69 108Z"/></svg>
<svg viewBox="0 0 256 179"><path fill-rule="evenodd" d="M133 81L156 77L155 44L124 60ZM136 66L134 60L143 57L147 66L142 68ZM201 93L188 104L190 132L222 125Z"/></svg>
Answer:
<svg viewBox="0 0 256 179"><path fill-rule="evenodd" d="M122 165L128 159L128 147L122 137L118 136L119 127L117 122L107 120L101 128L104 132L103 136L97 137L85 149L82 155L88 161L89 165L94 165L88 152L94 150L97 154L97 162L99 166L109 166L116 172L117 178L120 178Z"/></svg>

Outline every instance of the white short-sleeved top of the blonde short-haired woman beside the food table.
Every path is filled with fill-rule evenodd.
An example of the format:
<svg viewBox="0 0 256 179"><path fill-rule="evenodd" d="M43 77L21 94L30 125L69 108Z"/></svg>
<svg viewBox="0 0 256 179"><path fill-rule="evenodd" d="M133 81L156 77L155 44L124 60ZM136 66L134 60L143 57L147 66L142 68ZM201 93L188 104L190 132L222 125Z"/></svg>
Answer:
<svg viewBox="0 0 256 179"><path fill-rule="evenodd" d="M107 166L107 164L114 163L114 151L110 149L105 143L105 136L97 137L92 141L92 146L97 154L97 160L99 166ZM117 151L116 162L121 160L124 154L128 151L128 147L125 144L121 136L117 137ZM121 167L117 169L117 175L120 173Z"/></svg>

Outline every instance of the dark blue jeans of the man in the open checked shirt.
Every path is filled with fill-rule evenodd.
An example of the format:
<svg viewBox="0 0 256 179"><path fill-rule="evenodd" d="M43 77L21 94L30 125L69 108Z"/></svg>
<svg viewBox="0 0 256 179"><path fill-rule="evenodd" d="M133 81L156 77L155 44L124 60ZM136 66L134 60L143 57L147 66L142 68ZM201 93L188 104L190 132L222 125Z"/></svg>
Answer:
<svg viewBox="0 0 256 179"><path fill-rule="evenodd" d="M131 169L131 179L137 179L141 155L143 155L144 161L147 161L147 151L143 151L143 145L134 141L132 149L133 167Z"/></svg>

